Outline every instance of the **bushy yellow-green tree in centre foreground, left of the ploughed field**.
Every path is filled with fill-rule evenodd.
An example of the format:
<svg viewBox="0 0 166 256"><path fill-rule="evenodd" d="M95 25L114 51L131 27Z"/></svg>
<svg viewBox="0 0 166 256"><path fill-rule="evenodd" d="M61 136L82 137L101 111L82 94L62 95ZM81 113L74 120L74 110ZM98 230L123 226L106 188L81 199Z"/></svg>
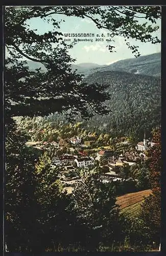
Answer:
<svg viewBox="0 0 166 256"><path fill-rule="evenodd" d="M87 248L94 249L100 242L107 244L117 239L119 210L115 206L114 193L100 181L95 169L82 170L72 198L70 207L86 230L84 240ZM121 236L120 229L119 232Z"/></svg>

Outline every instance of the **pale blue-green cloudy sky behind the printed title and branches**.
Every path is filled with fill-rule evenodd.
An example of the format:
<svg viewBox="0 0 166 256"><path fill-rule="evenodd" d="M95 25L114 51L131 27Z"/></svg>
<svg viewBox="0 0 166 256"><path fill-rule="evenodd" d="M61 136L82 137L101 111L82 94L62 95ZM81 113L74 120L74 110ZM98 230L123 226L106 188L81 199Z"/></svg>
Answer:
<svg viewBox="0 0 166 256"><path fill-rule="evenodd" d="M134 57L134 55L131 53L131 50L128 49L128 47L126 46L124 38L121 36L117 36L114 38L115 42L113 44L111 43L111 45L114 45L116 47L116 52L110 53L108 48L106 47L108 45L106 39L109 39L109 37L107 36L107 33L109 33L109 31L105 29L98 29L89 18L70 17L61 14L54 15L54 18L56 18L57 20L63 19L65 21L61 23L61 28L59 30L63 34L94 33L95 35L94 37L77 37L79 39L92 39L92 41L80 41L77 43L77 45L73 47L73 49L69 50L69 54L73 58L77 59L75 64L91 62L97 63L98 65L110 65L117 60ZM33 18L28 21L28 24L31 26L32 29L37 29L39 34L54 30L52 24L48 24L46 21L40 18ZM160 21L158 21L156 25L160 26ZM105 37L102 37L102 33L105 35ZM100 37L97 37L97 34L99 34ZM154 36L158 36L159 38L161 37L160 29L154 33ZM74 37L63 36L63 38L70 38L70 42L74 40ZM96 39L100 38L103 38L104 40L96 41ZM161 51L160 44L152 45L150 42L141 43L138 40L135 41L131 39L129 39L129 42L130 44L139 46L139 51L141 55L148 55Z"/></svg>

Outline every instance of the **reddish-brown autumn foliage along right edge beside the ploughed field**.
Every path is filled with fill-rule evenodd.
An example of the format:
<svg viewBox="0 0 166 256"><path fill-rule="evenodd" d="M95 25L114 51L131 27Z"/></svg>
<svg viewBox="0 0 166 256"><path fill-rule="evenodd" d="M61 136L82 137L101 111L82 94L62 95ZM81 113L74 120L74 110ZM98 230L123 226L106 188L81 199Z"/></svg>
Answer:
<svg viewBox="0 0 166 256"><path fill-rule="evenodd" d="M142 205L140 218L148 228L150 241L159 246L161 228L161 130L153 131L153 141L156 143L149 151L150 184L153 194L145 199Z"/></svg>

